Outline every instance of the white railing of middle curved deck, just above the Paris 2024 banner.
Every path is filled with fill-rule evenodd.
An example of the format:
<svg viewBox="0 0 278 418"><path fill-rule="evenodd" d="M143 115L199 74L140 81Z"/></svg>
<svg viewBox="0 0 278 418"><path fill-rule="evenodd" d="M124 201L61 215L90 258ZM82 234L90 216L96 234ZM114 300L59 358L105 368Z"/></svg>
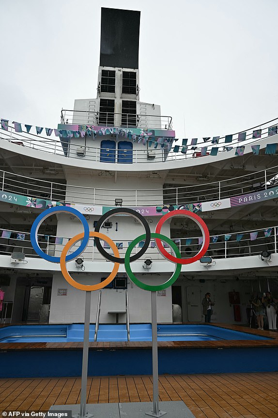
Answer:
<svg viewBox="0 0 278 418"><path fill-rule="evenodd" d="M240 196L278 184L278 166L213 183L194 184L163 189L104 189L73 184L49 182L0 170L0 190L6 201L16 203L9 193L24 197L66 201L88 205L114 206L115 198L122 198L124 206L182 205ZM30 203L31 206L31 203Z"/></svg>

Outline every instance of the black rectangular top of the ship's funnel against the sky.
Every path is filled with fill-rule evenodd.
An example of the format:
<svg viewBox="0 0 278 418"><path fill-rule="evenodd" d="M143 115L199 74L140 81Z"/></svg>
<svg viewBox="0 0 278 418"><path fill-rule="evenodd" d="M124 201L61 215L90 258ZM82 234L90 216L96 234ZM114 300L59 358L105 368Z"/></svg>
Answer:
<svg viewBox="0 0 278 418"><path fill-rule="evenodd" d="M140 12L101 8L101 67L138 68Z"/></svg>

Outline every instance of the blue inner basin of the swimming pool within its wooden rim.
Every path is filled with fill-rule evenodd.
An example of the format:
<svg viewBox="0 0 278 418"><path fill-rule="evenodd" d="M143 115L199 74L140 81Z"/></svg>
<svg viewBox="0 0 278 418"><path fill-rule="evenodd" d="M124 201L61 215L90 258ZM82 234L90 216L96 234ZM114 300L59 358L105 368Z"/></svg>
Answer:
<svg viewBox="0 0 278 418"><path fill-rule="evenodd" d="M11 325L0 328L0 343L83 341L83 324ZM90 341L94 324L90 325ZM214 325L158 324L158 341L267 340L269 338ZM100 324L97 341L127 341L125 324ZM152 341L151 324L131 324L130 341Z"/></svg>

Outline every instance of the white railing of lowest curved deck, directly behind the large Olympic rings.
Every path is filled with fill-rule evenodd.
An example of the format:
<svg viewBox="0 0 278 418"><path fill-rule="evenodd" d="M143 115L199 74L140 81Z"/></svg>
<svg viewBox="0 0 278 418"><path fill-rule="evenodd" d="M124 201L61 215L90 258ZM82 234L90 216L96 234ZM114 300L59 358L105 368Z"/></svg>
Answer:
<svg viewBox="0 0 278 418"><path fill-rule="evenodd" d="M271 233L266 231L267 229L257 229L252 231L242 231L233 234L219 234L211 235L210 245L206 255L210 255L214 258L230 258L230 257L243 257L260 255L262 251L268 251L269 253L277 253L277 233L278 226L272 227ZM268 232L268 234L267 234ZM251 233L258 233L253 240L251 239ZM35 254L31 241L30 234L28 232L19 232L13 230L2 230L0 236L0 255L11 255L13 252L24 252L27 257L38 257ZM24 234L24 239L18 239L18 234ZM269 235L269 236L266 236ZM9 238L5 237L9 236ZM217 236L217 239L216 239ZM43 235L38 234L38 242L40 248L49 255L60 256L64 245L71 237L57 237L55 235ZM216 240L216 242L214 242ZM129 245L129 241L121 240L116 245L119 249L120 256L124 257L124 254ZM187 238L172 238L172 241L176 243L181 251L183 258L189 258L196 255L201 248L200 236L193 236ZM58 243L59 242L59 243ZM103 244L103 241L101 241ZM134 248L132 254L137 253L142 247L143 241ZM151 247L151 246L149 246ZM71 249L71 252L77 250L78 243ZM167 250L171 251L170 248ZM110 252L109 249L106 251ZM86 251L82 254L84 260L99 260L103 261L103 256L98 252L94 246L93 239L89 241ZM166 261L165 258L157 251L156 248L149 248L144 257L151 257L152 260ZM81 270L80 270L81 271Z"/></svg>

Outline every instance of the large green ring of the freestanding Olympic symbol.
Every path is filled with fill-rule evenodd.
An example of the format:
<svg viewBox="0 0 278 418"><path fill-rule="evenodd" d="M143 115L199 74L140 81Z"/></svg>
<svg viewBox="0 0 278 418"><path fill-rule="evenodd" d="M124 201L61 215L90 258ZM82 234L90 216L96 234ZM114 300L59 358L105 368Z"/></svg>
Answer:
<svg viewBox="0 0 278 418"><path fill-rule="evenodd" d="M134 284L136 284L138 287L140 287L141 289L149 290L151 292L157 292L158 290L167 289L167 287L169 287L173 283L175 283L175 281L179 277L181 269L182 269L181 264L175 263L176 264L176 269L173 272L173 274L171 275L170 279L167 280L167 282L165 282L165 283L158 284L157 286L144 284L144 283L140 282L140 280L137 279L137 277L135 277L135 275L131 271L131 268L130 268L130 254L131 254L131 251L134 249L136 244L138 244L140 241L142 241L145 238L146 238L146 234L142 234L142 235L138 236L137 238L135 238L129 244L129 246L126 250L126 253L125 253L125 257L124 257L124 267L125 267L126 274L128 275L129 279ZM151 233L151 238L159 238L162 241L167 242L167 244L169 244L170 247L172 247L172 249L174 250L174 252L176 254L176 257L181 258L181 253L180 253L178 247L176 246L176 244L173 241L170 240L170 238L168 238L168 236L165 236L165 235L162 235L162 234L156 234L156 233L153 232L153 233Z"/></svg>

